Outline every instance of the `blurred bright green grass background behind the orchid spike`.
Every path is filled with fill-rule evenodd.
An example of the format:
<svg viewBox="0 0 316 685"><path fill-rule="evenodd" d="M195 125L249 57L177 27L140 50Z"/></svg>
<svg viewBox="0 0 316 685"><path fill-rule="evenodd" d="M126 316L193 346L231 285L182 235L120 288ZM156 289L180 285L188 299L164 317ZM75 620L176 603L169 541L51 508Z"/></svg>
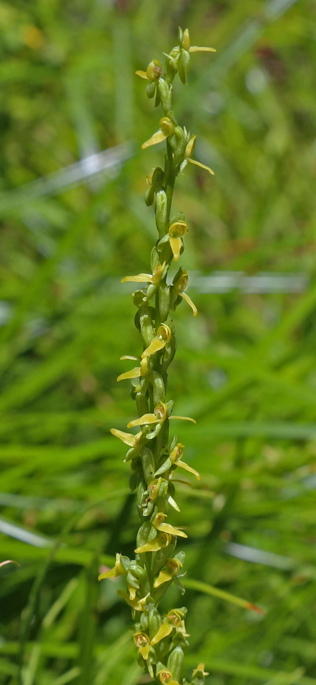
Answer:
<svg viewBox="0 0 316 685"><path fill-rule="evenodd" d="M140 351L120 278L148 271L144 177L163 151L140 153L160 114L134 72L179 24L217 49L174 86L215 171L190 166L174 198L199 310L176 312L169 378L202 475L172 519L189 527L185 675L316 684L315 3L1 0L0 561L21 564L0 569L5 685L146 682L120 581L96 578L138 525L109 428L135 414L116 384Z"/></svg>

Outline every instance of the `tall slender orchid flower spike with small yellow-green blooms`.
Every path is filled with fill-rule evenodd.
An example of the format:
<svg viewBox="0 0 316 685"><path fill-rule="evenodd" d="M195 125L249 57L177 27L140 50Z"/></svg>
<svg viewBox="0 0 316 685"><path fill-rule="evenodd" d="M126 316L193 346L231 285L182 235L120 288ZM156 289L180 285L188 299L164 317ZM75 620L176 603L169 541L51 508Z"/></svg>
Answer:
<svg viewBox="0 0 316 685"><path fill-rule="evenodd" d="M188 231L183 212L171 214L174 182L183 173L187 162L197 164L209 173L208 166L192 159L196 141L195 134L181 126L172 111L172 82L179 73L186 84L186 70L190 55L195 52L212 52L213 48L191 46L189 32L179 28L178 45L166 56L162 66L157 59L151 60L146 71L138 76L146 81L146 95L161 105L162 116L148 132L148 140L142 149L165 142L164 168L156 166L146 177L147 207L153 206L157 227L157 240L150 258L150 268L145 273L128 275L122 283L139 285L133 292L136 307L135 326L142 337L142 352L127 354L121 360L136 362L133 369L118 375L118 382L131 381L131 397L135 400L137 418L127 424L128 429L138 429L137 434L111 428L111 434L127 447L124 462L131 463L131 490L136 491L137 512L140 528L135 544L135 560L116 554L113 569L100 573L99 580L124 576L127 591L118 595L131 607L135 619L133 640L137 648L137 662L149 673L157 685L203 685L204 664L198 664L190 684L182 679L184 649L189 637L185 630L185 607L161 614L159 602L173 583L181 594L185 553L176 551L177 540L185 540L183 528L169 521L168 510L179 512L174 499L174 478L179 467L200 479L200 474L183 462L183 445L177 436L170 439L170 421L192 421L189 416L174 416L173 401L166 397L167 371L176 352L176 331L172 312L183 300L198 314L196 306L185 292L189 283L187 271L179 266L172 283L168 273L172 262L179 263L185 249ZM133 271L131 272L133 273ZM132 351L132 350L131 350ZM136 412L135 412L136 413ZM188 483L185 483L188 484ZM190 484L189 484L190 485Z"/></svg>

